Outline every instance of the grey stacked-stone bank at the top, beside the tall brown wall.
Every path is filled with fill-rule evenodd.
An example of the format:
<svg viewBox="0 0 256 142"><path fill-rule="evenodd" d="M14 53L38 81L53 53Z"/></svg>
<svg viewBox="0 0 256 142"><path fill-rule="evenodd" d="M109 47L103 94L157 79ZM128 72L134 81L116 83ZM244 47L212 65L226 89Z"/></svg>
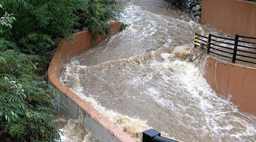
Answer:
<svg viewBox="0 0 256 142"><path fill-rule="evenodd" d="M202 0L170 0L170 3L186 13L194 21L201 21Z"/></svg>

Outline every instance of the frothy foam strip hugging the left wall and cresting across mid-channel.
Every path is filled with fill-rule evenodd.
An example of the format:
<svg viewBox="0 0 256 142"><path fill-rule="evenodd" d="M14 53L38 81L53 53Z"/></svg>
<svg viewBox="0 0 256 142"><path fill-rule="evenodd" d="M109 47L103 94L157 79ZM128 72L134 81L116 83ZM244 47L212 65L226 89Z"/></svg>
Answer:
<svg viewBox="0 0 256 142"><path fill-rule="evenodd" d="M122 61L129 61L131 64L134 64L136 61L140 62L138 60L138 58L134 57L134 58L130 58L130 59L122 59L122 60L118 60L117 62L122 62ZM135 139L136 141L140 142L142 140L142 133L148 129L151 129L152 127L147 125L146 121L143 121L141 119L139 119L139 117L129 117L128 115L123 115L123 114L119 114L114 110L109 110L103 106L101 106L101 104L99 102L97 102L95 99L93 99L92 97L86 97L83 92L83 87L80 87L79 85L79 74L78 72L80 70L86 69L87 66L81 66L81 65L77 65L77 61L72 61L70 64L68 64L67 66L65 66L65 74L63 74L64 76L62 76L61 81L62 82L69 82L70 80L68 79L70 76L70 74L72 75L72 80L76 83L72 84L72 88L70 88L72 91L74 91L79 97L81 97L83 100L85 100L87 103L89 103L94 109L96 109L98 112L100 112L102 115L104 115L107 119L109 119L110 121L112 121L116 126L118 126L119 128L121 128L124 132L126 132L128 135L130 135L133 139ZM106 65L110 65L109 63L105 63L105 64L101 64L103 66ZM101 66L100 65L100 66ZM74 72L74 70L70 70L70 69L74 69L76 71L76 73ZM94 66L94 69L98 70L98 69L104 69L102 67L98 68L98 66ZM76 74L76 75L74 75ZM162 136L167 137L167 138L172 138L175 139L173 137L170 137L167 133L162 132L161 131Z"/></svg>

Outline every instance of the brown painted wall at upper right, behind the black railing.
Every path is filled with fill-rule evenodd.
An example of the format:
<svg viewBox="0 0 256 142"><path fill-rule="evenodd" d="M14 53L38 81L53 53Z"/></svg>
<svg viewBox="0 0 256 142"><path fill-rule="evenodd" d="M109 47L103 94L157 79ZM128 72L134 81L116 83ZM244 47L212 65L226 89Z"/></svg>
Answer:
<svg viewBox="0 0 256 142"><path fill-rule="evenodd" d="M201 21L216 29L232 36L256 36L256 3L239 0L203 0L201 11ZM247 41L256 42L252 39Z"/></svg>

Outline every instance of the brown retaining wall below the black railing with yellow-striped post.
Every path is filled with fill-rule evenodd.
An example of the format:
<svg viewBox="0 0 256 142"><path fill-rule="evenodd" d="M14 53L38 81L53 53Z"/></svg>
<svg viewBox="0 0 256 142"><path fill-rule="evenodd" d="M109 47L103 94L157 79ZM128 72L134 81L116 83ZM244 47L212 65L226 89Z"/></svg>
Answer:
<svg viewBox="0 0 256 142"><path fill-rule="evenodd" d="M217 61L208 56L204 75L207 83L223 99L256 116L256 67Z"/></svg>

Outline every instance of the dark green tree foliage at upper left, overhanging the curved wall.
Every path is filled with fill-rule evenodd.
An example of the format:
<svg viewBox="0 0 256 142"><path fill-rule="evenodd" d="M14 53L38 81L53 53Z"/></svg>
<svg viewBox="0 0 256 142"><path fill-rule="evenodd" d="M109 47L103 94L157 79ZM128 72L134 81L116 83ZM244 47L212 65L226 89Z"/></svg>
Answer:
<svg viewBox="0 0 256 142"><path fill-rule="evenodd" d="M124 10L123 5L113 0L2 0L1 5L5 9L0 9L0 13L5 10L13 13L5 15L4 21L13 21L13 15L16 20L10 26L12 29L0 34L1 40L11 45L4 44L4 49L29 54L55 47L56 38L72 41L72 34L83 27L90 30L94 40L97 34L106 35L110 28L107 22L115 20Z"/></svg>

